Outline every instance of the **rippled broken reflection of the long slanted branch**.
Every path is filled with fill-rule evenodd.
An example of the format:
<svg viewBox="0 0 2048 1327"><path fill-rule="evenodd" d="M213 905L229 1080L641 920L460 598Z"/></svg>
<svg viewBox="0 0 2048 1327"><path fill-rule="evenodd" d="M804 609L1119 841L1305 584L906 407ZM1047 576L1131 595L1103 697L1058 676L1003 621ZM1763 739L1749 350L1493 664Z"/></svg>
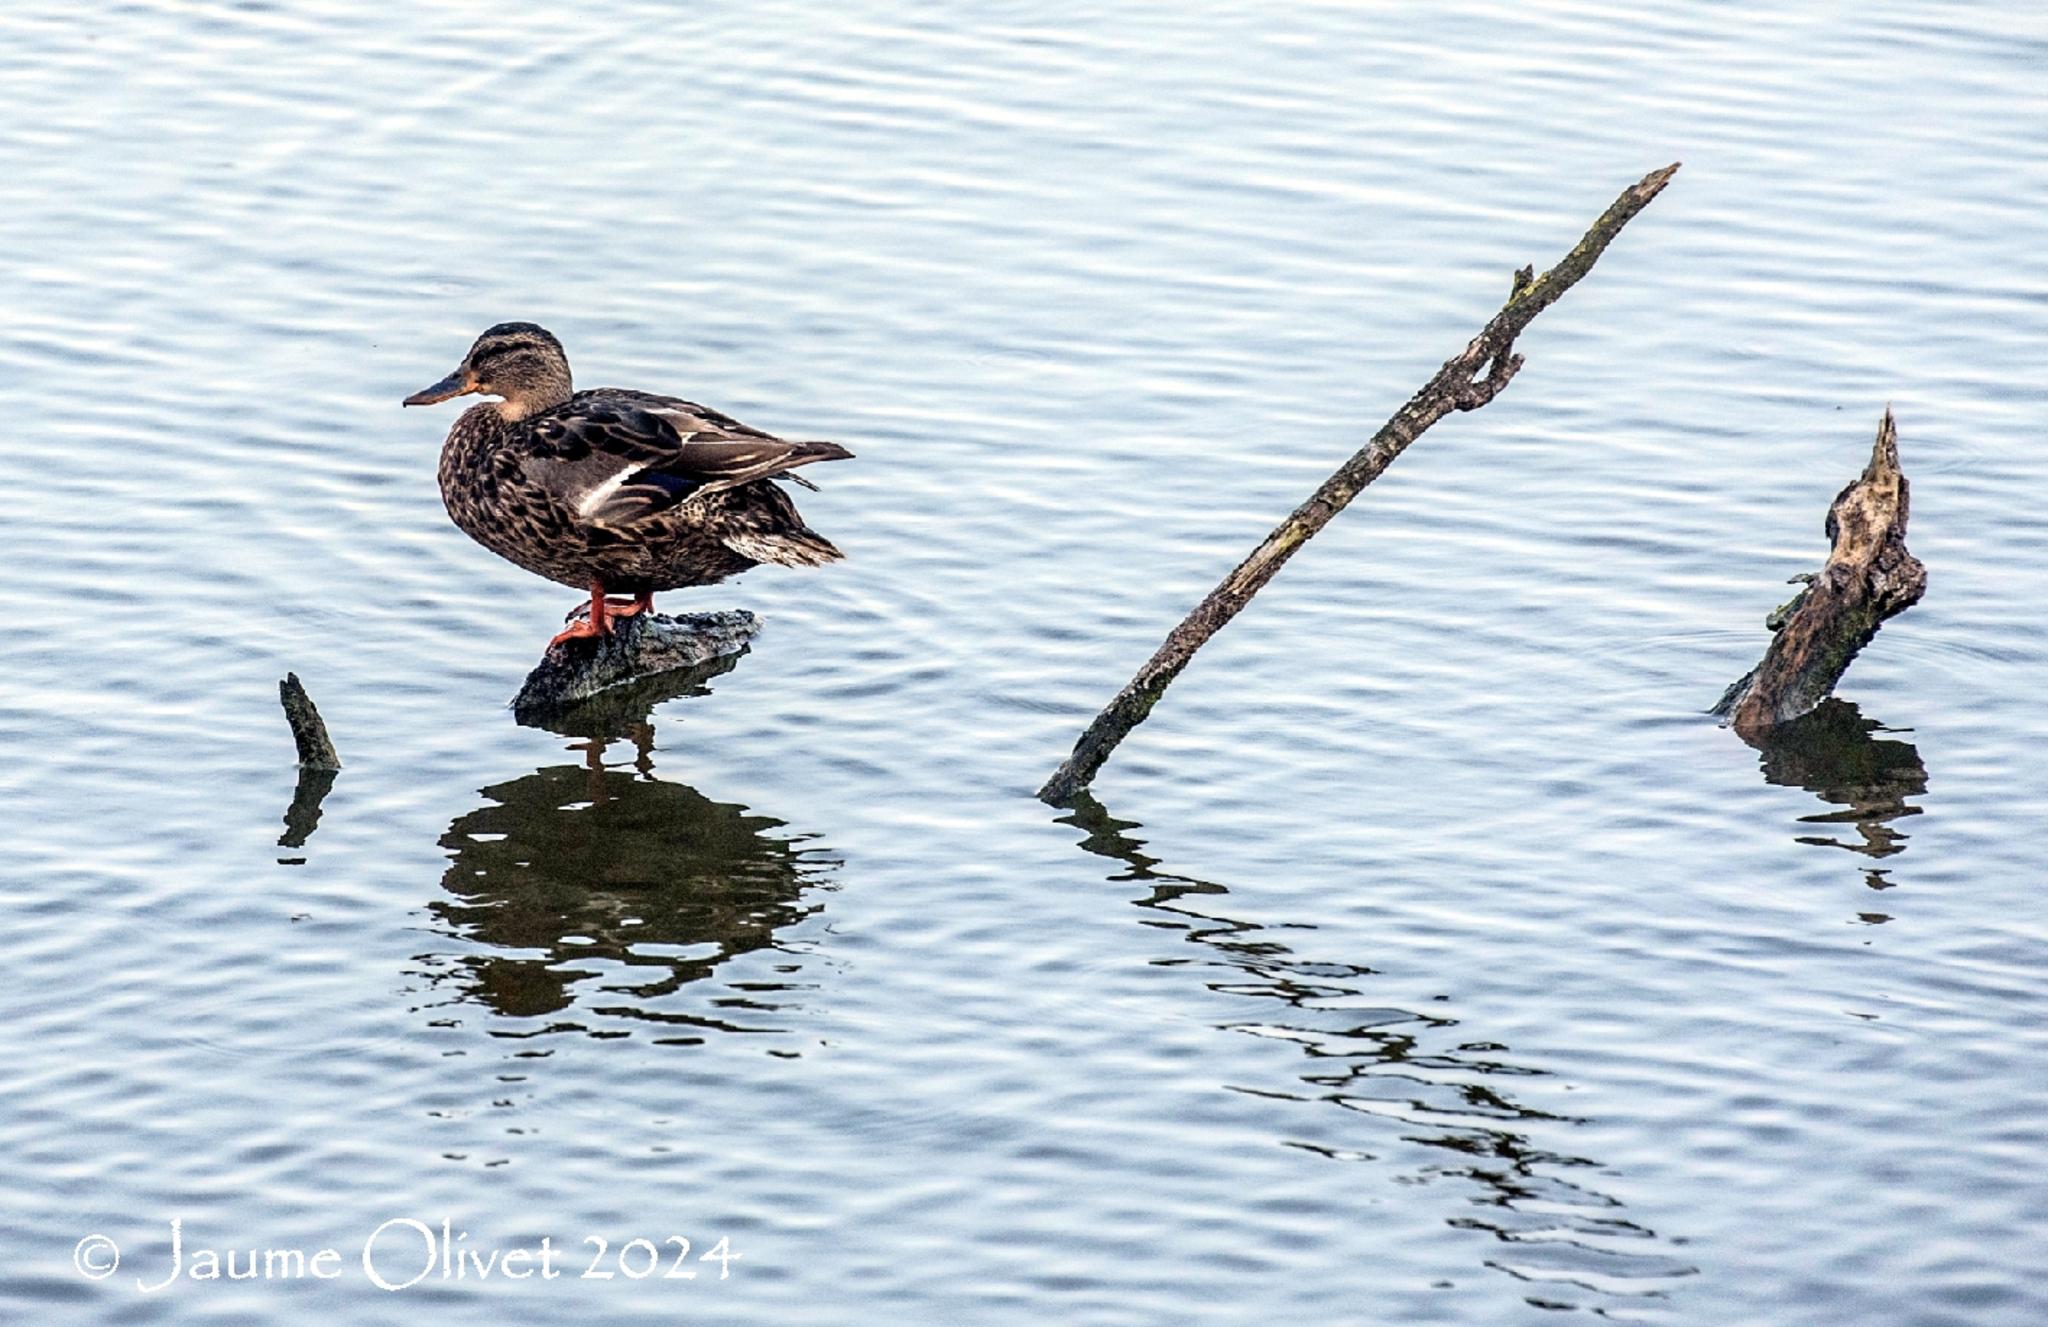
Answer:
<svg viewBox="0 0 2048 1327"><path fill-rule="evenodd" d="M1147 926L1178 930L1196 946L1157 962L1188 969L1243 1003L1243 1018L1225 1030L1300 1048L1292 1081L1237 1087L1333 1108L1305 1114L1292 1147L1335 1161L1380 1161L1380 1149L1411 1147L1446 1155L1411 1165L1401 1180L1462 1182L1464 1202L1448 1225L1489 1235L1483 1261L1540 1286L1526 1296L1538 1309L1608 1315L1663 1300L1677 1278L1698 1272L1587 1182L1597 1161L1540 1141L1556 1137L1559 1124L1583 1122L1516 1100L1516 1079L1544 1077L1544 1069L1513 1063L1507 1046L1454 1018L1374 1003L1364 989L1368 967L1303 958L1276 928L1225 915L1229 889L1159 870L1128 833L1139 825L1112 819L1094 797L1081 795L1063 823L1087 836L1081 848L1126 866L1110 881L1145 887L1135 901ZM1374 1124L1360 1130L1358 1116Z"/></svg>

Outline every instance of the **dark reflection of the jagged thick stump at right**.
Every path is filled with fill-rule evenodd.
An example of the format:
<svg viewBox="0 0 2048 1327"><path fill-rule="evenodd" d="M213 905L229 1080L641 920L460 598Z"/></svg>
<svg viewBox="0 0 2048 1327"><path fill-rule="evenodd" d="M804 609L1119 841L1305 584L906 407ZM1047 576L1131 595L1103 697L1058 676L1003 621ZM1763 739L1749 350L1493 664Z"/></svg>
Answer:
<svg viewBox="0 0 2048 1327"><path fill-rule="evenodd" d="M1892 821L1921 813L1907 799L1927 790L1927 766L1911 741L1876 735L1884 731L1849 700L1829 698L1804 719L1749 739L1759 752L1765 782L1806 788L1841 807L1802 815L1800 823L1845 825L1849 833L1802 833L1798 842L1847 848L1876 860L1905 852L1907 836ZM1886 889L1884 868L1868 868L1864 883ZM1888 917L1864 913L1864 919Z"/></svg>

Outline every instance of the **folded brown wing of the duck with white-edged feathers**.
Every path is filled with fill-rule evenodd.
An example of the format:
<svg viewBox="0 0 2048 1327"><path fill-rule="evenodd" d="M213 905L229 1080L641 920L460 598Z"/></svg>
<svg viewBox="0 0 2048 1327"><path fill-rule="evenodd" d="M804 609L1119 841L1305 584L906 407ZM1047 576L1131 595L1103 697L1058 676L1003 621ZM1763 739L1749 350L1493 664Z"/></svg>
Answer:
<svg viewBox="0 0 2048 1327"><path fill-rule="evenodd" d="M694 401L580 391L526 420L522 469L578 522L631 526L690 498L844 461L836 442L788 442Z"/></svg>

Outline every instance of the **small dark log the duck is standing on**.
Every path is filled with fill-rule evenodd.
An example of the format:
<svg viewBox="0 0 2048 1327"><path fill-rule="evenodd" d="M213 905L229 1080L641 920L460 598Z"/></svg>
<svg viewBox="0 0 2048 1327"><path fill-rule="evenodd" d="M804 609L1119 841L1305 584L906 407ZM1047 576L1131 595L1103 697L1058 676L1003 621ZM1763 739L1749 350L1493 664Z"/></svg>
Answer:
<svg viewBox="0 0 2048 1327"><path fill-rule="evenodd" d="M588 614L590 606L586 604L580 612ZM547 727L551 715L612 686L684 668L702 668L725 655L737 655L760 631L760 618L743 608L676 616L641 612L612 618L610 635L549 645L541 664L526 674L518 696L512 698L512 717L520 723Z"/></svg>

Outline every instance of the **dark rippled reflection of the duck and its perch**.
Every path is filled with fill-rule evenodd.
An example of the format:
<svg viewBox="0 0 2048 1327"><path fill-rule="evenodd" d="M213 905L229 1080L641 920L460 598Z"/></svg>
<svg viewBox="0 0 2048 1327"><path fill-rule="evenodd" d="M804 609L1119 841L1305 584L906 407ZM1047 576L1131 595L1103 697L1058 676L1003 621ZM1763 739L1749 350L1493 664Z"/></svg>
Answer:
<svg viewBox="0 0 2048 1327"><path fill-rule="evenodd" d="M819 909L813 887L836 862L778 819L655 778L649 711L707 676L621 688L547 719L582 739L584 762L483 788L487 801L442 836L449 897L430 913L471 952L434 981L514 1020L498 1034L651 1030L698 1042L780 1030L801 954L709 993L686 987L778 948L780 932Z"/></svg>

